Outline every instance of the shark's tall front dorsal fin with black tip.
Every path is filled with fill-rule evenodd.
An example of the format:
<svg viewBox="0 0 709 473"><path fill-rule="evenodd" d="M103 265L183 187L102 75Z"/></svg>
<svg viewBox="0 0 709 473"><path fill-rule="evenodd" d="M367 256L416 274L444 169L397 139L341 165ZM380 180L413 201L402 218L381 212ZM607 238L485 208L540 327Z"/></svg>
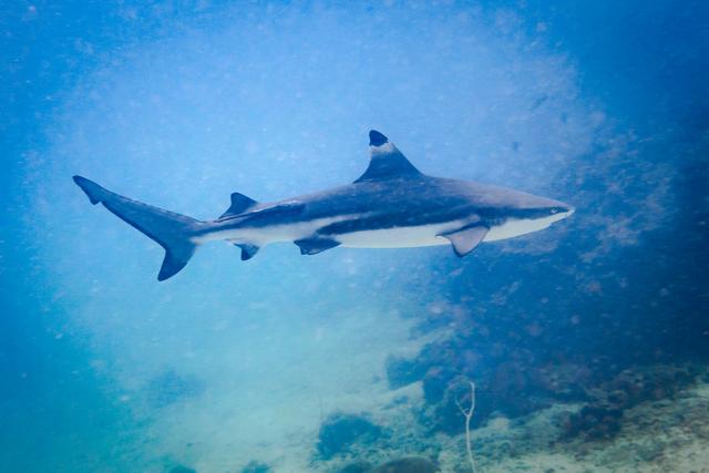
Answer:
<svg viewBox="0 0 709 473"><path fill-rule="evenodd" d="M376 130L369 132L369 167L356 183L395 177L417 177L421 173L407 160L387 136Z"/></svg>

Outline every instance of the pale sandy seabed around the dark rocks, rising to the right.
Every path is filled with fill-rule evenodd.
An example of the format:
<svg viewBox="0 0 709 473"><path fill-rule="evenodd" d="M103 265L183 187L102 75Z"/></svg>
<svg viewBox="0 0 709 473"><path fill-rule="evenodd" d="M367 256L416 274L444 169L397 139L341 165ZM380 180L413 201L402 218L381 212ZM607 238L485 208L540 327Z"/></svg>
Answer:
<svg viewBox="0 0 709 473"><path fill-rule="evenodd" d="M367 364L367 360L361 362ZM305 384L285 392L288 395L280 397L279 403L265 398L261 409L246 413L236 404L227 408L205 401L192 405L154 424L153 454L162 450L165 457L172 451L171 457L176 457L175 449L185 432L191 432L203 441L187 446L184 459L198 472L240 472L253 459L267 462L275 472L337 472L354 460L380 463L407 455L433 457L443 472L470 471L463 435L428 435L417 423L413 412L421 402L420 385L390 391L379 379L362 384L358 370L339 381L338 389L326 394L339 391L329 398L338 405L316 402ZM675 399L627 410L613 440L559 442L558 420L579 408L559 404L524 419L496 418L476 428L473 449L477 472L709 472L707 383L680 391ZM386 445L362 445L347 457L328 462L314 460L320 412L337 410L372 413L390 430Z"/></svg>

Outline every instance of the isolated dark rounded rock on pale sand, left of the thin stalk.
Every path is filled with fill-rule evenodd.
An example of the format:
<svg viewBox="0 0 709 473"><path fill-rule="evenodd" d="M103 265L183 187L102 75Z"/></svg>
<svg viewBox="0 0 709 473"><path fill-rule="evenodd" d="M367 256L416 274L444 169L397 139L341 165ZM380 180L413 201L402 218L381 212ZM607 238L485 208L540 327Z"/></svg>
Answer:
<svg viewBox="0 0 709 473"><path fill-rule="evenodd" d="M336 413L329 415L318 434L318 453L326 460L347 453L357 444L373 443L383 430L363 415Z"/></svg>

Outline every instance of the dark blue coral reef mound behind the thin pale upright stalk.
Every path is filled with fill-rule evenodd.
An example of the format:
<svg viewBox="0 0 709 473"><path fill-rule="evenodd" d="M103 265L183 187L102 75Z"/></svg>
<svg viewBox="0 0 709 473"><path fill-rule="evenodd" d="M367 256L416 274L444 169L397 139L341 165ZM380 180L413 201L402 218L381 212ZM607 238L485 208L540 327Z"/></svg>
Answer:
<svg viewBox="0 0 709 473"><path fill-rule="evenodd" d="M414 358L390 357L387 377L392 389L421 382L424 407L419 422L432 433L463 432L455 405L456 379L475 381L479 407L475 425L494 413L515 419L562 402L586 402L565 422L566 435L607 439L617 434L623 411L640 402L661 399L693 379L692 369L639 363L613 364L603 357L579 353L576 360L554 360L520 347L516 339L485 341L461 331L446 340L427 345Z"/></svg>

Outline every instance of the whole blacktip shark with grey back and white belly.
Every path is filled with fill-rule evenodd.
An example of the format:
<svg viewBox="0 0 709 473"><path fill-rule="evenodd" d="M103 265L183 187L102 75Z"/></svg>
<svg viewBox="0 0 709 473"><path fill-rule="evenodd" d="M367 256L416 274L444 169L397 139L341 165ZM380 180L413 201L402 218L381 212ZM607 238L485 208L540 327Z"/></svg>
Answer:
<svg viewBox="0 0 709 473"><path fill-rule="evenodd" d="M292 241L302 255L339 246L408 248L451 245L459 257L480 244L547 228L574 213L559 200L505 187L421 173L382 133L369 132L369 166L351 184L277 202L232 194L218 218L198 220L115 194L73 176L102 204L165 249L157 279L179 273L208 241L226 240L253 258L266 245Z"/></svg>

